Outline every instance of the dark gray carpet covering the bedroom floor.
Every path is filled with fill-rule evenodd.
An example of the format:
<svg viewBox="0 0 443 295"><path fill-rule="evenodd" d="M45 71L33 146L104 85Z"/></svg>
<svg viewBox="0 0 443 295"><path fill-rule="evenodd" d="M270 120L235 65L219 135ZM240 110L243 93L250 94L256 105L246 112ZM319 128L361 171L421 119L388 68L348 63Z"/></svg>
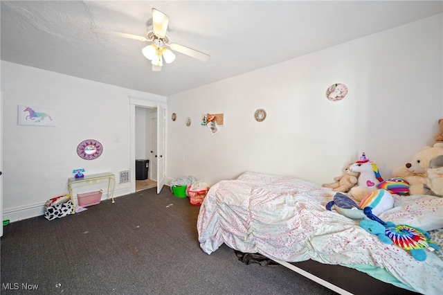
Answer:
<svg viewBox="0 0 443 295"><path fill-rule="evenodd" d="M198 213L165 186L13 222L1 238L1 294L334 294L282 266L244 265L226 246L204 253Z"/></svg>

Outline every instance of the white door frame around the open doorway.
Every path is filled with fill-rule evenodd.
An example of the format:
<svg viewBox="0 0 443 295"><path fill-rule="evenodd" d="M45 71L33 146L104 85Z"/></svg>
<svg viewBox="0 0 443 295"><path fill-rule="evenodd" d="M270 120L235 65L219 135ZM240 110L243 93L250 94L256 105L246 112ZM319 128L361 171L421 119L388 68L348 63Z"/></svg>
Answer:
<svg viewBox="0 0 443 295"><path fill-rule="evenodd" d="M135 193L136 191L136 107L150 107L159 109L159 107L162 107L163 109L166 109L166 105L161 102L154 102L150 100L145 100L143 98L134 98L132 96L129 96L129 116L130 116L130 157L129 161L131 162L129 165L130 175L131 175L131 192ZM157 128L159 125L159 118L157 118ZM157 150L159 150L157 143ZM164 153L163 153L164 154ZM164 174L166 174L166 171L164 171ZM157 173L157 178L159 178L159 173ZM159 188L159 184L157 183L157 189ZM161 189L161 188L160 188Z"/></svg>

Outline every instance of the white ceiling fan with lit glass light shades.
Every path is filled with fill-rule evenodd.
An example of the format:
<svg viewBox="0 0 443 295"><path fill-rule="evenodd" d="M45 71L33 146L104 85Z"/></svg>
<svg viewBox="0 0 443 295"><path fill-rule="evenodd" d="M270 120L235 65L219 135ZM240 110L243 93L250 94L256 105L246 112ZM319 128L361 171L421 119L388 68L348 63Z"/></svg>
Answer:
<svg viewBox="0 0 443 295"><path fill-rule="evenodd" d="M165 15L160 10L152 8L153 30L148 31L146 37L127 33L113 32L111 30L102 30L99 28L91 28L91 30L94 33L98 34L114 35L127 39L136 39L143 42L152 42L150 45L142 49L143 55L145 55L148 60L151 60L152 71L161 71L163 60L165 60L167 64L175 60L175 55L174 53L172 53L172 51L170 51L169 48L171 48L173 51L177 51L179 53L189 55L190 57L197 58L197 60L202 60L204 62L207 62L209 60L210 56L206 53L196 51L195 49L183 45L174 43L170 44L169 37L168 35L166 35L166 31L168 30L168 23L168 15Z"/></svg>

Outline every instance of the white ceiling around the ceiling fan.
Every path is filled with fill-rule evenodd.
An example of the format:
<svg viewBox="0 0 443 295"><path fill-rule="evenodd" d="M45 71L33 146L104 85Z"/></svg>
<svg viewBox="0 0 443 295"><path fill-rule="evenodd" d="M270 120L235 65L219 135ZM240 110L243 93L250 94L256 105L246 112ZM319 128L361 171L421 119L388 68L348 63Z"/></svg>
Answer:
<svg viewBox="0 0 443 295"><path fill-rule="evenodd" d="M152 72L145 36L156 8L176 53ZM1 60L162 96L442 13L443 1L1 1ZM383 44L380 44L383 46Z"/></svg>

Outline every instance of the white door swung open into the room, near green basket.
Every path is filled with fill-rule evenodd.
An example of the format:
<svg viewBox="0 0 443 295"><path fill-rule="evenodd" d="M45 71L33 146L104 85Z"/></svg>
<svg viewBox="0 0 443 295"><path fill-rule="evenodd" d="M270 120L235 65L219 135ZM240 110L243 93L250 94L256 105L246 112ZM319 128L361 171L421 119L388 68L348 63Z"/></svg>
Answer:
<svg viewBox="0 0 443 295"><path fill-rule="evenodd" d="M157 193L165 185L165 109L157 106Z"/></svg>

